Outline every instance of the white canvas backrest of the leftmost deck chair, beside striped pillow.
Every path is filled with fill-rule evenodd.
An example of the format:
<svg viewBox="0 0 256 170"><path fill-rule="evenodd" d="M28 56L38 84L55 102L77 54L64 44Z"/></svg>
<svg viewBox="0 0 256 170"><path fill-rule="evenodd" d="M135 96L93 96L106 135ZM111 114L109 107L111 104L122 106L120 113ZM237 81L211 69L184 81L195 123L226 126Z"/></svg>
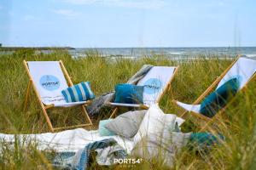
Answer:
<svg viewBox="0 0 256 170"><path fill-rule="evenodd" d="M59 61L28 61L27 65L45 105L66 103L61 90L68 86Z"/></svg>

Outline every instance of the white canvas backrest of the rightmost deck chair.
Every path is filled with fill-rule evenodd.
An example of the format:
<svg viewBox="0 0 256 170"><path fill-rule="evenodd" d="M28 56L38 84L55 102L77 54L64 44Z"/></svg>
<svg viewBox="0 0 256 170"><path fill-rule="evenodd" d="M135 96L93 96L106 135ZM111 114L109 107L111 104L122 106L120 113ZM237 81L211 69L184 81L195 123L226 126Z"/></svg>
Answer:
<svg viewBox="0 0 256 170"><path fill-rule="evenodd" d="M230 68L222 80L218 83L219 88L224 82L229 81L231 78L238 78L240 82L239 89L243 88L248 81L253 77L256 72L256 59L249 58L246 55L237 59L236 63Z"/></svg>

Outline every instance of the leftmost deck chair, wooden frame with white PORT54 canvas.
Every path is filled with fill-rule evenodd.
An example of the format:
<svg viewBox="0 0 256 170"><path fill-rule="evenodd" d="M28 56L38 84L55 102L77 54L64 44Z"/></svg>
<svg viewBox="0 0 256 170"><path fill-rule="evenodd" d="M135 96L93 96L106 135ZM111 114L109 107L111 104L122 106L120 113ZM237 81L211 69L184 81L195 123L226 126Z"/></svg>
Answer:
<svg viewBox="0 0 256 170"><path fill-rule="evenodd" d="M73 86L71 78L67 74L67 70L64 67L62 61L23 61L25 65L26 72L29 77L28 86L26 89L26 99L24 111L26 111L26 106L28 103L28 98L30 94L30 88L33 88L40 106L43 110L46 121L49 125L51 132L55 130L73 128L73 127L85 127L91 126L90 117L84 106L90 104L90 100L67 103L64 96L61 94L61 90ZM63 74L64 73L64 74ZM47 111L49 109L54 109L55 107L72 107L80 106L82 112L84 113L86 123L67 126L67 127L53 127L50 122ZM88 123L87 123L88 122Z"/></svg>

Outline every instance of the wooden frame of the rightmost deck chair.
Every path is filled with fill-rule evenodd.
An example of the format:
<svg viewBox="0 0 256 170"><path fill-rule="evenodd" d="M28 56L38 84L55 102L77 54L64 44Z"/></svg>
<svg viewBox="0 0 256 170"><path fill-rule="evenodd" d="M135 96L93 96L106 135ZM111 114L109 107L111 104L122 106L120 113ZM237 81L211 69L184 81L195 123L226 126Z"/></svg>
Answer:
<svg viewBox="0 0 256 170"><path fill-rule="evenodd" d="M214 82L212 82L211 86L209 86L209 88L207 88L207 90L204 93L202 93L201 96L199 96L199 98L197 98L192 105L199 105L201 103L202 99L204 99L208 94L210 94L213 91L213 89L218 85L218 82L220 82L222 80L222 78L227 74L227 72L230 71L232 66L236 64L236 61L238 59L240 59L241 56L242 56L241 54L237 55L235 61L220 75L220 77L218 77ZM247 88L248 82L252 81L254 77L256 77L255 73L253 74L253 77L251 77L247 81L247 83L244 85L244 87L240 89L240 91L244 91ZM172 101L175 105L177 105L177 100L172 100ZM206 129L208 126L210 126L212 124L212 122L214 122L217 119L217 117L219 115L221 115L226 110L226 108L229 107L234 101L235 101L235 98L231 99L230 102L227 105L225 105L225 107L222 108L220 111L218 111L218 113L215 116L213 116L212 118L195 113L194 111L184 111L183 114L181 115L181 117L184 118L184 116L186 114L190 113L192 116L195 116L195 117L200 118L201 120L205 121L206 123L205 123L204 127L201 128L201 131L202 131L202 130Z"/></svg>

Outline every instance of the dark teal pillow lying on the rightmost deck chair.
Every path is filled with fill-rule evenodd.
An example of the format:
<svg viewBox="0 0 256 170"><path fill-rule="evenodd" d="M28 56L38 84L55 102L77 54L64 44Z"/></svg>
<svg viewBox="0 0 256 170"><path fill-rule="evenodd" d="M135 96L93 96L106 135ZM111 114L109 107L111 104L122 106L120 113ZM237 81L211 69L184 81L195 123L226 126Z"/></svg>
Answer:
<svg viewBox="0 0 256 170"><path fill-rule="evenodd" d="M239 89L239 81L232 78L221 87L209 94L201 103L200 113L204 116L212 117L220 109L224 108L229 100L234 97Z"/></svg>

